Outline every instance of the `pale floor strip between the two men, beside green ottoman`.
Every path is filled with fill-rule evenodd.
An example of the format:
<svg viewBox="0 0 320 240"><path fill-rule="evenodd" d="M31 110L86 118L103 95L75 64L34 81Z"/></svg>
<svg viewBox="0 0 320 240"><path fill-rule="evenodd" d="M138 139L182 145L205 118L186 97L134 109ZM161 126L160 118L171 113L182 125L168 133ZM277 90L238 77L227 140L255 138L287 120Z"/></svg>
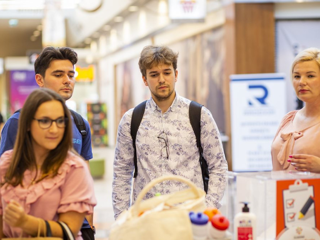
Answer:
<svg viewBox="0 0 320 240"><path fill-rule="evenodd" d="M96 240L107 240L111 224L115 221L111 202L114 148L94 148L93 158L105 159L105 174L94 179L94 191L98 204L94 207L93 224L96 227Z"/></svg>

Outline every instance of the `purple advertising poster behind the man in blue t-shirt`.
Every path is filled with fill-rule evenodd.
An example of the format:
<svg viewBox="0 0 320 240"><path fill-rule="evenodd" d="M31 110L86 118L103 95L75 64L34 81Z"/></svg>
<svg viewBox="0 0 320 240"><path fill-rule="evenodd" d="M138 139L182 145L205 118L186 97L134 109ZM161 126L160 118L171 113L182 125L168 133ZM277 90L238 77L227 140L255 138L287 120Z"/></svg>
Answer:
<svg viewBox="0 0 320 240"><path fill-rule="evenodd" d="M22 108L28 95L38 87L39 86L36 83L34 71L10 71L11 114Z"/></svg>

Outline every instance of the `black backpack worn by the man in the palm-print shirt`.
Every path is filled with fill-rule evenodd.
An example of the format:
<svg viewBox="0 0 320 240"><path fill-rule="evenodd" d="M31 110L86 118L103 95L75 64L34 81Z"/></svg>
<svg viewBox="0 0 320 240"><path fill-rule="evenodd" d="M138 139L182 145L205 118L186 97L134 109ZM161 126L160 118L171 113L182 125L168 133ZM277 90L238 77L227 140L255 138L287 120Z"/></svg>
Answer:
<svg viewBox="0 0 320 240"><path fill-rule="evenodd" d="M131 118L131 128L130 128L130 134L132 137L133 142L133 148L134 148L134 156L133 156L133 162L134 162L134 174L133 177L137 177L138 175L138 163L137 163L137 151L136 151L136 136L138 132L138 128L140 126L142 117L144 115L144 109L146 108L146 102L141 102L138 106L136 106L133 109L132 112L132 118ZM189 106L189 118L190 123L193 129L193 132L196 135L197 140L197 147L199 148L199 162L202 172L202 179L204 183L204 191L208 193L208 184L209 184L209 170L208 170L208 164L207 161L204 159L203 156L203 149L201 147L201 141L200 141L200 120L201 120L201 108L203 105L191 101Z"/></svg>

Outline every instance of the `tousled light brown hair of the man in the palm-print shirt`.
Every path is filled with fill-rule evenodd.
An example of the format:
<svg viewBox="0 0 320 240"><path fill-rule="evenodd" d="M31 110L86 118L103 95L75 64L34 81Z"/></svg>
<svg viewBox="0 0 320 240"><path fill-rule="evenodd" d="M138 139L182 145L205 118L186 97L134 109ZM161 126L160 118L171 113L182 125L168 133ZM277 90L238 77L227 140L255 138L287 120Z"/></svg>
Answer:
<svg viewBox="0 0 320 240"><path fill-rule="evenodd" d="M142 49L139 59L139 68L142 76L146 76L147 69L151 69L159 64L171 65L176 71L178 53L173 52L167 46L145 46Z"/></svg>

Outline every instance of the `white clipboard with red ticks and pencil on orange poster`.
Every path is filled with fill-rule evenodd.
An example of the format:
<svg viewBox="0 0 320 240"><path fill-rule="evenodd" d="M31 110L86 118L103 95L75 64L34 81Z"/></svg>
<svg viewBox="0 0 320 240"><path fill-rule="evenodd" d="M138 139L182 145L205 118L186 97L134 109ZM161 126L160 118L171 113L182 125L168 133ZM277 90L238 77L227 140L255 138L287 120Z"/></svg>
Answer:
<svg viewBox="0 0 320 240"><path fill-rule="evenodd" d="M316 228L314 187L295 180L289 189L283 190L284 225L286 228L309 226Z"/></svg>

